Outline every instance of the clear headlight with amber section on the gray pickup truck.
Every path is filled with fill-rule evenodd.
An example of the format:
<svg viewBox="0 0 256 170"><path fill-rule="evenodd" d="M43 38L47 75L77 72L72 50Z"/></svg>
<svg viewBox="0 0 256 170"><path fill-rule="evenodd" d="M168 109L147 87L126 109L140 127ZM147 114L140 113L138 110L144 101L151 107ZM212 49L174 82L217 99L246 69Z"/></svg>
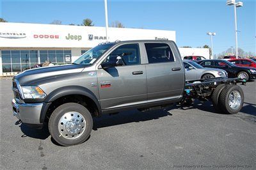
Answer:
<svg viewBox="0 0 256 170"><path fill-rule="evenodd" d="M24 98L44 98L46 94L38 86L22 86Z"/></svg>

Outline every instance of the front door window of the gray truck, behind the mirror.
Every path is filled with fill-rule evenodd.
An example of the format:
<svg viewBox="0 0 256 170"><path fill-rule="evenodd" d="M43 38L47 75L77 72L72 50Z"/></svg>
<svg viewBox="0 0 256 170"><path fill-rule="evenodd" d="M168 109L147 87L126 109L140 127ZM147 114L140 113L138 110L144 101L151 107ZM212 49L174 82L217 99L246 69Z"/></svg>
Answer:
<svg viewBox="0 0 256 170"><path fill-rule="evenodd" d="M140 64L140 48L138 43L126 44L117 47L103 61L103 63L116 63L118 56L122 58L123 65L139 65Z"/></svg>

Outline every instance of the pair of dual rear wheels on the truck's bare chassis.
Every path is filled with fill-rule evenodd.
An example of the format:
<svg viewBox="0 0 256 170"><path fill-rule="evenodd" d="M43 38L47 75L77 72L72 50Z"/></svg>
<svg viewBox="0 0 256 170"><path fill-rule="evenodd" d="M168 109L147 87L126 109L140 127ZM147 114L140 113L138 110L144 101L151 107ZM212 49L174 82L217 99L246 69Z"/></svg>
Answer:
<svg viewBox="0 0 256 170"><path fill-rule="evenodd" d="M234 84L220 84L212 93L212 105L224 114L236 114L243 107L243 89Z"/></svg>

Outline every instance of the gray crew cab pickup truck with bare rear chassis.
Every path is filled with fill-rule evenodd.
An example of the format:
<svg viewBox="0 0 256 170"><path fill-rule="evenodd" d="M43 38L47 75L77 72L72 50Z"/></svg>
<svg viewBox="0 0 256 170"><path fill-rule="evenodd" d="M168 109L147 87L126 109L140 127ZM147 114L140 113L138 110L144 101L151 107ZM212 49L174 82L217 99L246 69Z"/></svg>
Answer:
<svg viewBox="0 0 256 170"><path fill-rule="evenodd" d="M53 139L83 143L93 117L125 109L150 111L170 104L211 100L221 113L243 107L239 78L185 81L180 53L172 41L101 43L70 65L26 70L13 77L13 114L34 128L48 125Z"/></svg>

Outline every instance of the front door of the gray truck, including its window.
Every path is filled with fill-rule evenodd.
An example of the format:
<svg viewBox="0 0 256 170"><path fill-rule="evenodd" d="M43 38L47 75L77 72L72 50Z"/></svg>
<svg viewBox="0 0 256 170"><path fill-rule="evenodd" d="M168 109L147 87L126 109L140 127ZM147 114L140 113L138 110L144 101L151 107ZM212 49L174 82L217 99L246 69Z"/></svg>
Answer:
<svg viewBox="0 0 256 170"><path fill-rule="evenodd" d="M106 54L102 63L116 63L117 58L122 58L122 66L97 70L103 110L127 107L147 100L146 69L145 65L141 65L140 44L121 44Z"/></svg>

